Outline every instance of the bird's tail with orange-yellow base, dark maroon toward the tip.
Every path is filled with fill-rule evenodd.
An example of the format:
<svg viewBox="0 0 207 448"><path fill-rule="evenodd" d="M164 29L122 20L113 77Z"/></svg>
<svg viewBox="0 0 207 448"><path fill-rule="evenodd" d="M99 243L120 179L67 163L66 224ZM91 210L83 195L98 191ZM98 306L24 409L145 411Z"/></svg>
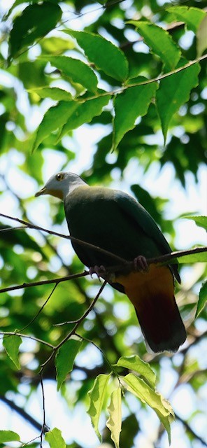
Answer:
<svg viewBox="0 0 207 448"><path fill-rule="evenodd" d="M141 330L150 349L177 351L186 332L174 297L173 276L169 267L150 265L148 272L117 276L134 304Z"/></svg>

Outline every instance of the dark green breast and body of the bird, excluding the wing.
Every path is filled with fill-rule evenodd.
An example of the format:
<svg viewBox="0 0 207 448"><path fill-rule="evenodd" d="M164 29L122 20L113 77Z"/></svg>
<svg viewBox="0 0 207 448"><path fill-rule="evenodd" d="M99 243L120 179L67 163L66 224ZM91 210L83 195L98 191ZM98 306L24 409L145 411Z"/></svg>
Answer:
<svg viewBox="0 0 207 448"><path fill-rule="evenodd" d="M137 223L127 207L124 209L123 198L130 201L128 195L108 188L80 186L73 190L64 203L71 236L104 248L125 260L133 260L137 255L149 258L166 253L168 250L164 251L154 237L145 233L144 226ZM140 206L132 200L131 207ZM144 212L141 217L145 219ZM157 233L162 235L158 228ZM89 248L74 243L73 248L87 266L117 264L113 258Z"/></svg>

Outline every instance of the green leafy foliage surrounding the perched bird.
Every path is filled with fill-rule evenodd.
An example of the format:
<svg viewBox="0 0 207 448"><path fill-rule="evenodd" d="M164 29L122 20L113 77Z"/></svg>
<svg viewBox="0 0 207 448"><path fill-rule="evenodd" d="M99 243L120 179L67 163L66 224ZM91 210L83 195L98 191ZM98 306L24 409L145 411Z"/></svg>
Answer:
<svg viewBox="0 0 207 448"><path fill-rule="evenodd" d="M78 159L74 130L85 132L85 123L89 123L90 132L98 127L102 132L90 169L82 174L91 185L113 184L115 173L125 179L135 160L143 174L150 173L154 164L159 169L170 165L180 188L187 186L189 174L198 179L207 149L205 4L191 1L185 6L171 6L171 2L160 6L155 0L148 1L148 6L135 0L128 4L16 0L10 10L4 11L1 73L8 82L0 87L0 199L12 197L16 216L24 221L35 220L41 225L46 202L38 208L38 200L30 195L45 181L48 158L53 161L52 172L59 169L59 160L63 169L70 169L71 162ZM97 15L84 27L90 10L96 10ZM69 11L72 20L80 22L73 24ZM159 130L162 144L157 143ZM20 190L11 180L13 164L15 175L21 179ZM32 193L27 192L27 181ZM132 193L174 246L173 222L164 216L168 200L151 197L142 181L141 185L131 183ZM64 213L59 202L52 202L46 211L48 221L43 228L50 226L62 232ZM184 218L206 229L206 217ZM154 356L146 353L141 332L134 337L137 321L132 307L126 302L123 314L117 313L117 307L122 309L123 296L105 284L100 290L99 281L86 274L76 276L83 266L69 246L69 255L63 255L62 241L67 244L66 240L48 236L41 228L32 230L32 226L13 229L2 215L1 221L1 286L11 290L1 293L0 400L38 430L30 446L38 447L39 440L43 446L45 440L51 448L81 448L78 437L67 440L66 445L62 431L47 426L44 383L50 380L55 384L55 379L68 408L72 404L76 410L78 404L83 405L99 440L103 437L110 446L134 447L135 437L144 433L142 415L153 421L150 408L170 441L174 413L159 393L164 363L169 362L178 378L171 395L178 386L187 385L199 397L206 380L202 356L194 350L206 334L202 325L199 328L199 322L206 319L206 251L187 250L182 257L177 255L181 267L190 263L201 267L193 285L186 290L176 287L189 340L178 357L166 353ZM68 275L68 281L53 281ZM31 282L40 283L28 288L24 284ZM13 285L22 287L15 289ZM97 353L95 363L83 363L92 348ZM22 409L15 405L15 398L25 380L28 389L22 392ZM31 421L26 409L38 384L43 416ZM202 409L201 405L201 414ZM101 422L103 414L106 425ZM197 441L206 446L204 435L193 429L197 413L188 413L189 421L178 414L177 419L187 430L184 442L189 437L192 447ZM156 424L155 444L166 447L166 436ZM13 430L0 431L1 443L15 440L20 436ZM27 442L25 438L19 446Z"/></svg>

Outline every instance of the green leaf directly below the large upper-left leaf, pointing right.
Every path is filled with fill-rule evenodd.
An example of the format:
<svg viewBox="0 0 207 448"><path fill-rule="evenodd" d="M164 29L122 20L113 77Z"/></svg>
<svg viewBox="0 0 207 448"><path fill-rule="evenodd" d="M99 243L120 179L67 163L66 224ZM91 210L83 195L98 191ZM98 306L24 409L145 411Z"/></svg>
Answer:
<svg viewBox="0 0 207 448"><path fill-rule="evenodd" d="M90 92L97 92L97 76L83 61L66 56L41 57L41 59L49 61L52 66L57 67L74 83L83 85Z"/></svg>

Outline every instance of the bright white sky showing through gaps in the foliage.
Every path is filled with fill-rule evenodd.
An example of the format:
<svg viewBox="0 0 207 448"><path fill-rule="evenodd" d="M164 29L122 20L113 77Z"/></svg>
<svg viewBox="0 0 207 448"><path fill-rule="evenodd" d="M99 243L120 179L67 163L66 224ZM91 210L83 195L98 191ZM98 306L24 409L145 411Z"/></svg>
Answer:
<svg viewBox="0 0 207 448"><path fill-rule="evenodd" d="M6 2L6 9L8 9L9 3L13 1ZM126 2L130 3L130 2ZM94 4L94 9L97 5ZM99 13L96 13L98 15ZM83 26L87 25L88 22L94 20L94 14L83 16L81 20L73 20L71 26L76 29L81 29ZM13 85L13 78L3 75L0 71L0 83L3 85ZM25 101L20 105L21 108L27 111L27 96L22 92L22 87L19 85L21 93L21 101L24 98ZM36 109L31 116L28 116L29 127L35 127L37 123L41 120L39 111ZM74 132L73 139L69 139L71 148L76 149L77 157L75 161L69 163L68 169L72 172L80 174L83 169L88 169L92 163L92 157L95 150L95 144L103 136L103 127L96 125L93 128L88 125L83 125L78 130ZM161 139L160 135L156 138ZM109 157L113 158L113 155ZM54 153L52 151L47 151L45 153L45 165L44 165L44 178L45 181L54 174L55 172L62 169L64 163L64 155L60 153ZM10 151L9 158L7 155L1 156L0 174L6 176L6 181L8 186L15 191L20 197L26 199L27 197L34 196L34 193L38 190L36 181L32 181L28 176L23 174L17 165L20 162L20 155L13 149ZM207 181L206 181L206 167L201 166L199 169L198 184L195 183L192 174L187 174L187 188L184 190L180 186L180 182L174 179L174 172L171 165L166 165L161 171L159 171L158 164L153 164L147 174L143 173L143 169L138 165L138 160L131 160L127 169L124 172L124 181L120 180L120 172L115 170L113 172L114 181L113 187L120 188L121 190L130 193L129 185L131 183L140 183L140 185L149 191L152 196L163 196L169 198L169 205L166 207L166 218L176 218L180 214L193 212L195 214L206 214L206 191L207 191ZM1 185L2 184L2 185ZM0 188L3 188L3 183L0 183ZM49 210L50 210L50 198L40 197L36 198L34 202L28 202L28 216L31 221L43 225L46 228L54 228L52 222L50 221ZM20 211L18 210L17 201L15 197L9 192L4 193L0 196L0 211L3 214L8 214L11 216L20 216ZM9 223L10 224L10 223ZM63 227L63 232L67 232L66 224ZM176 246L178 249L189 248L194 244L206 244L206 235L204 230L197 228L194 223L188 220L178 219L176 223ZM69 244L62 243L61 252L64 260L69 260ZM72 254L72 251L70 252ZM189 271L187 270L183 275L183 280L187 281L189 276ZM84 355L85 356L85 355ZM93 358L98 359L99 353L94 353L94 349L90 347L90 362ZM177 355L179 356L179 355ZM81 360L81 356L80 356ZM86 362L86 360L85 360ZM176 379L172 376L169 360L164 360L164 377L160 381L159 390L168 396L171 393L173 384ZM69 383L67 388L70 393L71 384ZM73 412L67 407L64 400L60 398L60 394L57 393L55 389L55 384L52 381L45 381L45 403L47 412L47 423L49 426L62 429L62 435L66 438L68 442L73 440L75 435L77 442L80 444L84 443L85 448L98 448L99 442L97 442L97 437L94 434L94 430L90 426L90 419L80 407ZM162 390L164 389L164 390ZM27 385L20 386L20 392L24 395L27 393ZM206 399L207 388L204 388L204 399ZM24 398L22 395L14 396L13 393L7 394L8 398L15 400L17 405L24 405ZM138 402L136 404L133 399L132 404L138 409ZM172 405L175 410L178 408L179 413L182 412L182 406L180 407L180 401L185 403L183 407L183 417L187 418L193 409L197 408L196 398L187 391L187 386L179 388L179 391L172 398ZM187 413L185 413L187 409ZM27 404L27 412L31 413L36 417L38 421L41 421L42 412L42 398L41 390L38 390L38 395L31 395L29 402ZM124 410L126 412L126 410ZM1 413L1 428L10 428L17 430L20 433L22 440L30 440L38 433L29 425L25 425L24 421L15 412L10 412L10 409L3 405L0 401L0 413ZM141 410L141 414L145 414L145 411ZM195 428L199 432L199 425L201 421L198 420L198 427ZM81 430L80 430L81 428ZM157 418L152 413L150 419L145 419L143 423L143 431L145 433L145 440L139 439L140 446L145 443L145 448L152 448L152 440L146 444L146 439L148 438L148 433L152 433L152 428L156 430L157 428ZM173 426L172 444L171 448L183 448L182 437L180 436L180 431L178 426ZM13 444L17 447L18 444ZM45 447L48 444L45 443ZM164 439L164 444L162 447L167 447L166 437ZM186 445L187 447L187 445Z"/></svg>

